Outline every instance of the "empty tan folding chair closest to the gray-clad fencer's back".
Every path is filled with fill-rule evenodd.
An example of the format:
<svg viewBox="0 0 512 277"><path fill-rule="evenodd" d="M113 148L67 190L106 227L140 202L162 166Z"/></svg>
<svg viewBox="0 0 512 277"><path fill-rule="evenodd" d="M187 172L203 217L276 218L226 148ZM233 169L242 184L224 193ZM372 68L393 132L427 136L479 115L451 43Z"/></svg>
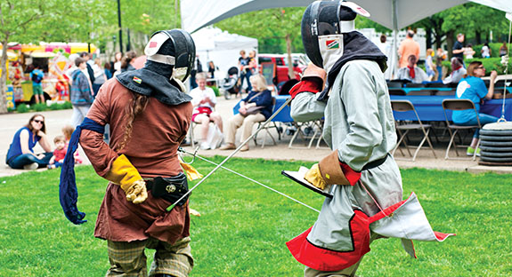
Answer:
<svg viewBox="0 0 512 277"><path fill-rule="evenodd" d="M416 156L419 153L419 149L421 149L421 147L427 140L430 150L432 150L434 157L437 159L437 156L435 155L434 147L432 146L432 143L430 142L430 139L428 138L428 134L430 132L430 128L432 127L432 125L421 123L421 120L419 119L419 115L416 112L416 108L414 108L414 105L412 105L412 103L410 103L409 100L392 100L391 107L393 108L394 112L399 112L399 113L411 112L411 111L414 112L414 115L416 115L416 120L414 120L414 121L418 122L418 123L399 124L397 121L395 121L396 131L398 131L398 133L400 135L400 139L398 140L398 143L396 143L396 146L394 146L392 155L394 156L394 152L403 142L403 145L407 149L407 152L412 157L412 162L415 162ZM405 141L407 134L411 130L418 130L418 131L423 132L423 139L421 139L421 142L419 143L418 146L409 146L409 145L407 145L407 142ZM402 131L404 131L404 132L402 133ZM409 150L410 148L416 148L414 155L410 154L410 150ZM402 155L404 155L402 152L402 149L400 149L400 152L402 153Z"/></svg>

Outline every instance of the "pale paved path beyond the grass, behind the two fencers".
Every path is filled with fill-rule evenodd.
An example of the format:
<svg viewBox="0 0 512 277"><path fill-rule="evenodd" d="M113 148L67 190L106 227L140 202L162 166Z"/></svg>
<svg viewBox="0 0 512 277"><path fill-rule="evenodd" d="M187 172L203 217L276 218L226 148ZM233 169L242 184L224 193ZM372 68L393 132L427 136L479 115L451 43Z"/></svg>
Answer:
<svg viewBox="0 0 512 277"><path fill-rule="evenodd" d="M216 110L222 115L224 123L227 119L232 115L232 107L239 101L240 99L223 99L218 98L218 104ZM53 142L53 138L57 135L61 134L61 128L69 123L69 120L72 115L72 110L61 110L61 111L46 111L41 114L45 115L46 121L46 129L49 139ZM28 123L28 119L30 116L34 115L34 113L28 114L9 114L9 115L0 115L0 159L5 161L5 154L7 154L7 150L9 145L12 142L12 137L14 133L20 129L20 127L26 123ZM199 127L199 126L198 126ZM256 127L255 127L256 128ZM200 128L195 128L195 136L196 139L200 138ZM285 127L286 129L286 127ZM272 130L271 133L277 138L277 133ZM258 143L261 145L263 142L264 136L263 134L258 135ZM263 158L263 159L273 159L273 160L299 160L299 161L310 161L315 162L319 161L322 157L330 153L330 150L323 144L321 144L320 149L315 149L305 147L305 144L301 140L297 140L294 143L294 147L289 148L289 141L291 137L288 135L283 135L280 141L276 146L272 145L272 140L270 137L266 138L266 143L264 148L260 146L255 146L253 141L249 142L250 150L248 152L239 152L236 154L236 157L244 157L244 158ZM186 146L185 149L189 151L193 151L191 146ZM40 146L36 146L36 151L42 151ZM79 151L82 151L81 149ZM229 155L232 151L221 151L221 150L199 150L199 154L203 156L212 156L215 154L220 155ZM81 152L82 156L85 158L85 154ZM399 166L401 168L426 168L426 169L435 169L435 170L459 170L459 171L469 171L472 173L481 173L486 171L493 171L498 173L512 173L512 167L489 167L489 166L479 166L477 162L473 162L471 160L466 161L458 161L458 160L444 160L444 148L443 146L436 147L437 159L434 158L432 153L427 150L421 150L419 152L419 156L417 157L416 162L409 161L400 161L397 160ZM454 153L453 153L454 154ZM400 158L400 154L397 152L395 155L397 158ZM3 176L11 176L16 175L24 170L12 170L7 165L0 165L0 178ZM85 164L88 161L85 158ZM229 162L228 162L229 165Z"/></svg>

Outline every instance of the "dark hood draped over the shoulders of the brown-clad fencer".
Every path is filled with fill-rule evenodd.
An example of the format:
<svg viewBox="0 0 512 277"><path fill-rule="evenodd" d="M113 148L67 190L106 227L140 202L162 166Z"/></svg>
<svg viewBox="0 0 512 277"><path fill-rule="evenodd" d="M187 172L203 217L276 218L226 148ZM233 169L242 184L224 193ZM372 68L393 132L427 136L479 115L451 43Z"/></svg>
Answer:
<svg viewBox="0 0 512 277"><path fill-rule="evenodd" d="M180 85L175 80L158 75L148 69L141 68L127 71L116 78L126 89L136 93L154 97L158 101L175 106L191 101L191 96L180 91Z"/></svg>

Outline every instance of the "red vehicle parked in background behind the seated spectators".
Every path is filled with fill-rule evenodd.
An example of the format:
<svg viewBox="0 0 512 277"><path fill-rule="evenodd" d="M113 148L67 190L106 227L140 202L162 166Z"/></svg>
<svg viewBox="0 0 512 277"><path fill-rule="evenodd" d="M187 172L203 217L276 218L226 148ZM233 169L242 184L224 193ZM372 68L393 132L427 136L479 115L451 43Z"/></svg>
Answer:
<svg viewBox="0 0 512 277"><path fill-rule="evenodd" d="M264 75L267 78L267 82L270 81L271 72L273 71L272 83L280 89L280 86L283 83L286 83L290 78L288 75L288 57L286 54L258 54L258 65L260 74ZM294 57L292 56L292 59ZM269 65L272 66L269 67ZM269 70L269 69L272 69ZM302 68L300 63L294 62L293 71L295 73L295 79L300 80L300 75L302 74ZM270 82L269 82L270 84Z"/></svg>

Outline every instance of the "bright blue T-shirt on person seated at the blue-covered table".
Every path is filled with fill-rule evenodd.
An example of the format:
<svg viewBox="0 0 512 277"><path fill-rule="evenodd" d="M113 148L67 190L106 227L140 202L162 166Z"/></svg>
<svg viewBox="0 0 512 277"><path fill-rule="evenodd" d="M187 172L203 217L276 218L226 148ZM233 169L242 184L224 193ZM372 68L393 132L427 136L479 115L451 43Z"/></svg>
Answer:
<svg viewBox="0 0 512 277"><path fill-rule="evenodd" d="M482 79L474 76L467 76L460 80L457 85L456 97L457 99L469 99L475 103L476 113L480 112L480 99L484 99L487 95L487 88ZM455 124L463 124L476 119L475 111L463 110L453 111L451 120Z"/></svg>

